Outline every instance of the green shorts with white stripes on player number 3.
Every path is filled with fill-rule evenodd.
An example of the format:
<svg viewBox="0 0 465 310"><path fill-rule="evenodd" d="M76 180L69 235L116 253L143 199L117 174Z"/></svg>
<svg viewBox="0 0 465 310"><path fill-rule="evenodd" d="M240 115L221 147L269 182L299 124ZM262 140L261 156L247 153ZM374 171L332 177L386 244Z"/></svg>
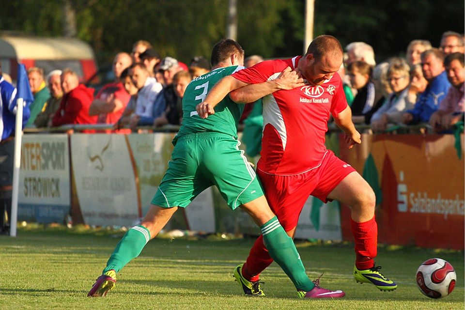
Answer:
<svg viewBox="0 0 465 310"><path fill-rule="evenodd" d="M239 140L216 132L180 137L152 203L165 208L186 207L212 185L233 210L263 196L255 171L239 145Z"/></svg>

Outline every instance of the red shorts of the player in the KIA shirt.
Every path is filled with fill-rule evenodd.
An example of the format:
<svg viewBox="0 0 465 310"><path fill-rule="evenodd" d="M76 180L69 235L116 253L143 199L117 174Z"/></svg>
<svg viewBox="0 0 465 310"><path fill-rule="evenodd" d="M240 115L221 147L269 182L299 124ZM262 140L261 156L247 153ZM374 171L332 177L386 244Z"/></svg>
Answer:
<svg viewBox="0 0 465 310"><path fill-rule="evenodd" d="M328 202L327 196L351 172L352 166L327 151L321 165L294 175L274 175L257 169L266 200L285 231L297 226L310 195Z"/></svg>

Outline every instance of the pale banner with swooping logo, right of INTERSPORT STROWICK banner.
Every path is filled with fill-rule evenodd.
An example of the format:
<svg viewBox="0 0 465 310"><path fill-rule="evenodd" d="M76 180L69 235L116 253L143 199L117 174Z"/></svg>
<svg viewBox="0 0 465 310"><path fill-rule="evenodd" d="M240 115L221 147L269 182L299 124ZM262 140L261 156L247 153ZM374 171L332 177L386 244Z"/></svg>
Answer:
<svg viewBox="0 0 465 310"><path fill-rule="evenodd" d="M132 226L142 216L136 167L124 135L71 135L71 163L84 222Z"/></svg>

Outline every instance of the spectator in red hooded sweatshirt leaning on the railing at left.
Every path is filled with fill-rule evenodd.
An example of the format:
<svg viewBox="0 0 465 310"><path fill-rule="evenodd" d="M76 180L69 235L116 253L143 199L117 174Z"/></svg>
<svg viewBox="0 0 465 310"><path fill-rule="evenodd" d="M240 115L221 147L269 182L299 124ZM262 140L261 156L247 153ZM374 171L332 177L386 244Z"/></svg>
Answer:
<svg viewBox="0 0 465 310"><path fill-rule="evenodd" d="M95 124L96 116L89 115L89 107L93 100L93 89L79 84L76 72L64 69L62 73L63 98L60 102L52 126L64 124Z"/></svg>

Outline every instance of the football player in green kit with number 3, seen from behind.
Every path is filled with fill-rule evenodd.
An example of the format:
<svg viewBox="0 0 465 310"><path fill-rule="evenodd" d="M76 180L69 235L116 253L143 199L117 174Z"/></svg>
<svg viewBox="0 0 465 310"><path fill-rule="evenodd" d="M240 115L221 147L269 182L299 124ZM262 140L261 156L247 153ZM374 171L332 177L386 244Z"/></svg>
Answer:
<svg viewBox="0 0 465 310"><path fill-rule="evenodd" d="M183 97L183 124L173 140L168 170L147 215L118 243L88 296L105 296L115 286L116 273L139 256L173 213L179 207L186 207L205 188L215 185L231 209L240 206L261 228L271 257L293 281L298 296L342 297L342 291L323 289L318 286L318 281L313 282L307 277L293 240L268 206L255 171L239 149L236 127L243 106L226 97L208 119L197 114L196 106L202 103L215 83L242 68L244 50L233 40L222 40L213 47L211 62L213 70L187 86ZM251 90L261 97L280 89L302 86L302 82L297 72L287 68L275 80L249 87L255 87ZM234 276L246 294L264 295L259 281L248 281L240 270L236 270Z"/></svg>

